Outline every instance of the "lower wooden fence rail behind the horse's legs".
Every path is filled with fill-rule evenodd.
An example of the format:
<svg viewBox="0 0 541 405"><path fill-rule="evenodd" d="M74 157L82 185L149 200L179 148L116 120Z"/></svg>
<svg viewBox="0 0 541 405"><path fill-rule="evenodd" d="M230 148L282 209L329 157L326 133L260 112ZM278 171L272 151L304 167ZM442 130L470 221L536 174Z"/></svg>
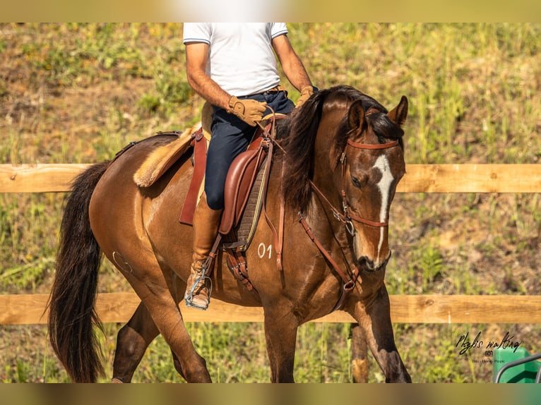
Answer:
<svg viewBox="0 0 541 405"><path fill-rule="evenodd" d="M47 322L47 294L0 295L0 325ZM541 296L391 296L391 320L398 323L541 323ZM102 322L126 322L140 302L134 293L99 294ZM263 309L213 300L208 310L182 306L186 322L263 322ZM354 322L341 310L314 322Z"/></svg>

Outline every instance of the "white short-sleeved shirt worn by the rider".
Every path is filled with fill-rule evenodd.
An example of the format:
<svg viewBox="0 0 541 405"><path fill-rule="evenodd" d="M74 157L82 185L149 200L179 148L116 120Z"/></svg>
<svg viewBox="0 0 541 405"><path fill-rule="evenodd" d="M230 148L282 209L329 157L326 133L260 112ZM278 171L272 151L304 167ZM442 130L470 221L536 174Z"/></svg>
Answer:
<svg viewBox="0 0 541 405"><path fill-rule="evenodd" d="M209 45L206 73L234 96L254 95L280 82L272 40L285 23L184 23L184 44Z"/></svg>

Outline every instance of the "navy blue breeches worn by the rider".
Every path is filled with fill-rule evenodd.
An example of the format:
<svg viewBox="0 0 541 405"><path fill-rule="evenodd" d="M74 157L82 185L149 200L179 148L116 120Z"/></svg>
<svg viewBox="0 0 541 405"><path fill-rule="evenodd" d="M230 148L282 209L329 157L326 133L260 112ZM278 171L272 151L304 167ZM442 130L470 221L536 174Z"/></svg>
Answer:
<svg viewBox="0 0 541 405"><path fill-rule="evenodd" d="M239 97L239 99L256 99L267 102L276 113L289 114L295 109L295 104L287 98L286 93L264 92L259 95ZM267 109L263 116L270 114ZM224 188L227 170L234 158L248 147L256 128L249 126L234 114L225 109L213 106L212 137L207 151L205 169L205 193L207 203L213 210L224 207Z"/></svg>

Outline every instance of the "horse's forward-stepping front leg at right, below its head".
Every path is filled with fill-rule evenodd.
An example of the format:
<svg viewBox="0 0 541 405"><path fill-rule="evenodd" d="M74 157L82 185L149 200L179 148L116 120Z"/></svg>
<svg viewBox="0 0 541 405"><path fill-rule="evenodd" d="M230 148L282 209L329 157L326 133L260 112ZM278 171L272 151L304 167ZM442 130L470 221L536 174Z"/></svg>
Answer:
<svg viewBox="0 0 541 405"><path fill-rule="evenodd" d="M386 382L411 382L408 370L396 349L385 286L381 287L368 306L357 303L352 315L362 327L367 344L385 374Z"/></svg>

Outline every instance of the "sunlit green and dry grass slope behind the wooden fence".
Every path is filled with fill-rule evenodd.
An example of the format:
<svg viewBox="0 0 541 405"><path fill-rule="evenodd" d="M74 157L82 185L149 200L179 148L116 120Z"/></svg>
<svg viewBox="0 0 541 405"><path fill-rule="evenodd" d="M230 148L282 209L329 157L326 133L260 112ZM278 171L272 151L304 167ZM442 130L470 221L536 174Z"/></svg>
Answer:
<svg viewBox="0 0 541 405"><path fill-rule="evenodd" d="M290 40L320 88L350 84L389 109L410 101L408 164L539 163L540 24L291 23ZM0 163L90 163L132 140L198 121L186 83L182 25L0 24ZM297 90L284 81L292 99ZM64 195L0 195L2 294L47 293ZM397 195L391 212L391 294L540 294L539 195ZM100 291L130 291L104 262ZM106 325L112 364L120 325ZM268 382L261 324L189 324L217 382ZM395 325L416 382L488 382L457 355L465 331L520 334L537 325ZM299 330L299 382L350 380L348 325ZM64 382L42 326L0 327L0 380ZM136 382L179 382L158 338ZM371 358L370 380L384 377Z"/></svg>

